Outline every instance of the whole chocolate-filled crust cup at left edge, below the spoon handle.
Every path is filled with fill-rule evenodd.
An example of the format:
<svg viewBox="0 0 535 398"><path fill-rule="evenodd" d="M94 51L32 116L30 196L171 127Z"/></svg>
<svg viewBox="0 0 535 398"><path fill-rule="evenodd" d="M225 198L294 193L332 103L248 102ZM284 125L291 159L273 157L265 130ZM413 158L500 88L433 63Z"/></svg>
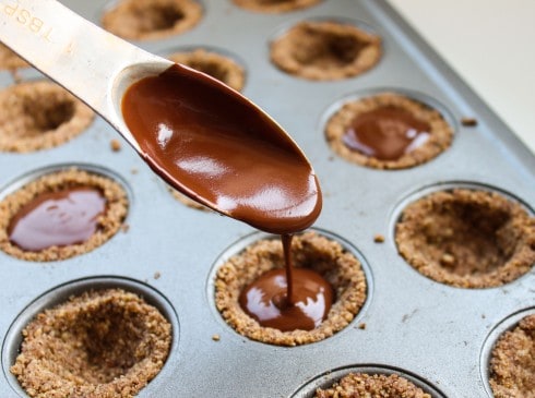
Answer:
<svg viewBox="0 0 535 398"><path fill-rule="evenodd" d="M36 262L87 253L117 233L128 206L114 178L79 167L48 169L1 200L0 249Z"/></svg>

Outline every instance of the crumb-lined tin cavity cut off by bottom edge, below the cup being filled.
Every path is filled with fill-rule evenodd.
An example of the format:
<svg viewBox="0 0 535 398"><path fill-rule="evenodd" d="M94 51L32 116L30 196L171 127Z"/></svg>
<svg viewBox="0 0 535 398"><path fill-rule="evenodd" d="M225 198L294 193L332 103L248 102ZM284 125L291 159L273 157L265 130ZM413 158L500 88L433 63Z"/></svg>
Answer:
<svg viewBox="0 0 535 398"><path fill-rule="evenodd" d="M299 388L292 398L331 397L444 398L437 388L408 372L361 365L329 371Z"/></svg>

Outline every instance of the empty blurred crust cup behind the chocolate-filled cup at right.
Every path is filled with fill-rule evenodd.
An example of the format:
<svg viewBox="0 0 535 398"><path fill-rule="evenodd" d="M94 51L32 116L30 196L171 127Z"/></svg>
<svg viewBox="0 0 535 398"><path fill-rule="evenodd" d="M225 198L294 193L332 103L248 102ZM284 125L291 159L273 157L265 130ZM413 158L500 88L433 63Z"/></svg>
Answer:
<svg viewBox="0 0 535 398"><path fill-rule="evenodd" d="M271 45L277 68L312 81L357 76L376 65L381 52L379 36L337 22L301 22Z"/></svg>

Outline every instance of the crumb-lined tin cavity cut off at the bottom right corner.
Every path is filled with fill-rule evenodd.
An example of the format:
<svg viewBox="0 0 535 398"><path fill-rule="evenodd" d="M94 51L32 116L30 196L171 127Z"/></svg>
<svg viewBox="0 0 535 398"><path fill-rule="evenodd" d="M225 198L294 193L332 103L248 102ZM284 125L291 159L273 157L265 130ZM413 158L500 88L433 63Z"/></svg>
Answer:
<svg viewBox="0 0 535 398"><path fill-rule="evenodd" d="M501 322L482 353L482 376L490 396L531 397L535 391L535 307Z"/></svg>

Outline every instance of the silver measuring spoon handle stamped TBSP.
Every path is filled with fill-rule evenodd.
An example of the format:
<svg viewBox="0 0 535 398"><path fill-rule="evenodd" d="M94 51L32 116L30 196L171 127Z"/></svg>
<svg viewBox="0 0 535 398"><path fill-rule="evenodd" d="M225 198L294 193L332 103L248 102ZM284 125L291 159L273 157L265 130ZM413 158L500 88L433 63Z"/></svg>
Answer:
<svg viewBox="0 0 535 398"><path fill-rule="evenodd" d="M124 89L118 87L124 80L117 77L129 70L132 81L130 67L141 64L144 74L159 73L170 62L107 33L56 0L0 0L0 41L74 93L136 146L117 109L120 98L114 98Z"/></svg>

